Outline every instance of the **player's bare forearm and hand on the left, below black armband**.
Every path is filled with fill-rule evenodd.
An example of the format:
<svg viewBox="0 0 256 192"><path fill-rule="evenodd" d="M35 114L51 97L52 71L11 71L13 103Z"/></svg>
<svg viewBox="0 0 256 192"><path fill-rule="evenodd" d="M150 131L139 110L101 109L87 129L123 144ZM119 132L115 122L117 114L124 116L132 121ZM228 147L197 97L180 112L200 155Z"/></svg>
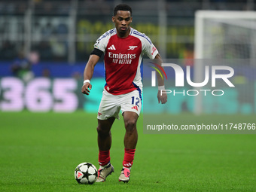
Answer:
<svg viewBox="0 0 256 192"><path fill-rule="evenodd" d="M93 77L94 67L99 61L99 58L100 57L98 55L95 55L95 54L90 55L87 65L84 68L84 81L87 81L87 80L90 81L90 79ZM89 95L90 93L89 89L90 90L92 89L92 84L90 84L90 82L85 82L83 84L81 92L86 95Z"/></svg>

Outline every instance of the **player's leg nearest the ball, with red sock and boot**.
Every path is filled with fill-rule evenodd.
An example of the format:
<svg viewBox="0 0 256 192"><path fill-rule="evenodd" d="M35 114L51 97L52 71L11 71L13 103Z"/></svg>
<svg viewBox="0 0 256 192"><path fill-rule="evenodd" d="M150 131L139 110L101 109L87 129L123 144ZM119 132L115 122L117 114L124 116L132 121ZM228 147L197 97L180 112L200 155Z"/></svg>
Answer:
<svg viewBox="0 0 256 192"><path fill-rule="evenodd" d="M96 182L104 182L107 176L114 172L109 155L111 148L111 126L114 123L114 119L114 117L110 117L107 120L98 119L99 170Z"/></svg>

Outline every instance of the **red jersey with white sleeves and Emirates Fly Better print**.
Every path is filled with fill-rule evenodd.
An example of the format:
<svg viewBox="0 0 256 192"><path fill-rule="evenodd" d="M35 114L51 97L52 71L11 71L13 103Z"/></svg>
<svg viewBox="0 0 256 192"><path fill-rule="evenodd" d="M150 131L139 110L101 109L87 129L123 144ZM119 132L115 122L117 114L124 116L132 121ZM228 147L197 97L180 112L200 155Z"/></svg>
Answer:
<svg viewBox="0 0 256 192"><path fill-rule="evenodd" d="M116 29L111 29L96 41L94 47L105 53L105 90L113 95L141 89L143 53L150 59L158 53L151 40L133 28L126 38L119 38Z"/></svg>

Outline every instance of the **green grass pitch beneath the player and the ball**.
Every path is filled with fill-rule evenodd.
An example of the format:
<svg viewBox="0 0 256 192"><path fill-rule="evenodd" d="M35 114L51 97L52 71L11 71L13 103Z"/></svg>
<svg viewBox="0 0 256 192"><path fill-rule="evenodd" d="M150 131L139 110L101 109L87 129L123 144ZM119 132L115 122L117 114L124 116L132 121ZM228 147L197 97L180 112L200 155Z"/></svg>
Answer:
<svg viewBox="0 0 256 192"><path fill-rule="evenodd" d="M256 135L143 134L142 117L130 182L118 181L120 118L112 128L115 172L105 183L78 184L79 163L98 167L96 124L96 114L81 111L0 112L0 191L256 191Z"/></svg>

